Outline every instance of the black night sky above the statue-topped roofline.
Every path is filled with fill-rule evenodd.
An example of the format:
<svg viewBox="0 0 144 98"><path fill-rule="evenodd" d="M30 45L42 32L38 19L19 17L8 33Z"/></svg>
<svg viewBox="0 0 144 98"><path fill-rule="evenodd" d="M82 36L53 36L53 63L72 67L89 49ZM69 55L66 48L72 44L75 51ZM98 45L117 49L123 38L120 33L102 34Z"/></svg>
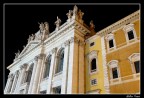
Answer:
<svg viewBox="0 0 144 98"><path fill-rule="evenodd" d="M89 25L90 20L94 21L95 31L100 31L112 23L140 9L138 4L76 4L84 12L83 20ZM73 4L45 4L45 5L9 5L4 6L4 35L5 35L5 64L6 68L13 63L15 53L22 51L23 45L27 44L30 34L39 30L38 22L47 21L50 25L50 32L55 29L56 17L66 22L66 13L73 9ZM9 71L5 71L5 78Z"/></svg>

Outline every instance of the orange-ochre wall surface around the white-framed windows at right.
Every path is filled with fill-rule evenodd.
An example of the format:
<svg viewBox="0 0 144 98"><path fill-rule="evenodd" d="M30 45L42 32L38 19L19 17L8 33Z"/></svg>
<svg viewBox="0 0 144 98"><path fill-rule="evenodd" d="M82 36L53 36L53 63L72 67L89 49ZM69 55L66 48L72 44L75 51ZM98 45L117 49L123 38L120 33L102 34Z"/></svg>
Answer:
<svg viewBox="0 0 144 98"><path fill-rule="evenodd" d="M139 37L139 21L133 22L137 37ZM114 32L116 49L106 54L107 63L111 60L118 60L118 68L120 70L121 81L134 80L132 67L128 57L133 53L140 53L140 42L131 41L130 44L126 43L126 37L122 29ZM105 40L105 45L106 45ZM108 68L108 77L110 79L110 68ZM138 79L140 77L138 76ZM109 80L112 81L112 80ZM119 80L115 80L118 83ZM133 82L120 83L111 85L110 93L137 93L140 92L140 81L135 80Z"/></svg>

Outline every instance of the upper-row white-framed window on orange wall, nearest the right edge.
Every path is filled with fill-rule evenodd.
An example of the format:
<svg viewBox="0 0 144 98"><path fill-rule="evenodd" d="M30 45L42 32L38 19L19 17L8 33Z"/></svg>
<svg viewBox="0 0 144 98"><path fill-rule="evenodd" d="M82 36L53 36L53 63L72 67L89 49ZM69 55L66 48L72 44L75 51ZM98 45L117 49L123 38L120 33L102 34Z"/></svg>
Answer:
<svg viewBox="0 0 144 98"><path fill-rule="evenodd" d="M134 29L134 24L128 24L124 26L123 28L126 36L126 41L129 43L130 40L135 40L137 39L136 37L136 31Z"/></svg>

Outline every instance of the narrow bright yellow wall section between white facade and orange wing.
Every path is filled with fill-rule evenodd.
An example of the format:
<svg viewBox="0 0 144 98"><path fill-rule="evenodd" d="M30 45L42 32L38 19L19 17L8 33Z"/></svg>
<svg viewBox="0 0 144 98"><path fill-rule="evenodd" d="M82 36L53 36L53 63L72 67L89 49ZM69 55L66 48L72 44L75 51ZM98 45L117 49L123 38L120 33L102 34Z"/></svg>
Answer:
<svg viewBox="0 0 144 98"><path fill-rule="evenodd" d="M101 37L97 37L95 40L91 40L91 42L95 42L95 45L90 47L89 43L86 43L86 47L85 47L85 55L87 55L88 53L90 53L93 50L99 51L98 52L98 64L97 64L97 69L98 72L95 74L90 74L90 66L89 66L89 59L86 56L85 57L85 71L86 71L86 92L90 92L96 89L100 89L100 93L105 93L104 90L104 74L103 74L103 63L102 63L102 49L101 49ZM91 79L97 79L97 85L91 86Z"/></svg>

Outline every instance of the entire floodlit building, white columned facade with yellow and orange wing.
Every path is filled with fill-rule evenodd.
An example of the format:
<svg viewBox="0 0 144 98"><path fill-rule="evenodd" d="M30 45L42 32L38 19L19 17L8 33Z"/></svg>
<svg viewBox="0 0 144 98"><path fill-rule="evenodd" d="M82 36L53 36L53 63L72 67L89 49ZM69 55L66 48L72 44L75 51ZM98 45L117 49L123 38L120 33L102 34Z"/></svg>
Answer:
<svg viewBox="0 0 144 98"><path fill-rule="evenodd" d="M140 10L95 32L74 6L61 25L47 22L16 53L4 94L140 93Z"/></svg>

